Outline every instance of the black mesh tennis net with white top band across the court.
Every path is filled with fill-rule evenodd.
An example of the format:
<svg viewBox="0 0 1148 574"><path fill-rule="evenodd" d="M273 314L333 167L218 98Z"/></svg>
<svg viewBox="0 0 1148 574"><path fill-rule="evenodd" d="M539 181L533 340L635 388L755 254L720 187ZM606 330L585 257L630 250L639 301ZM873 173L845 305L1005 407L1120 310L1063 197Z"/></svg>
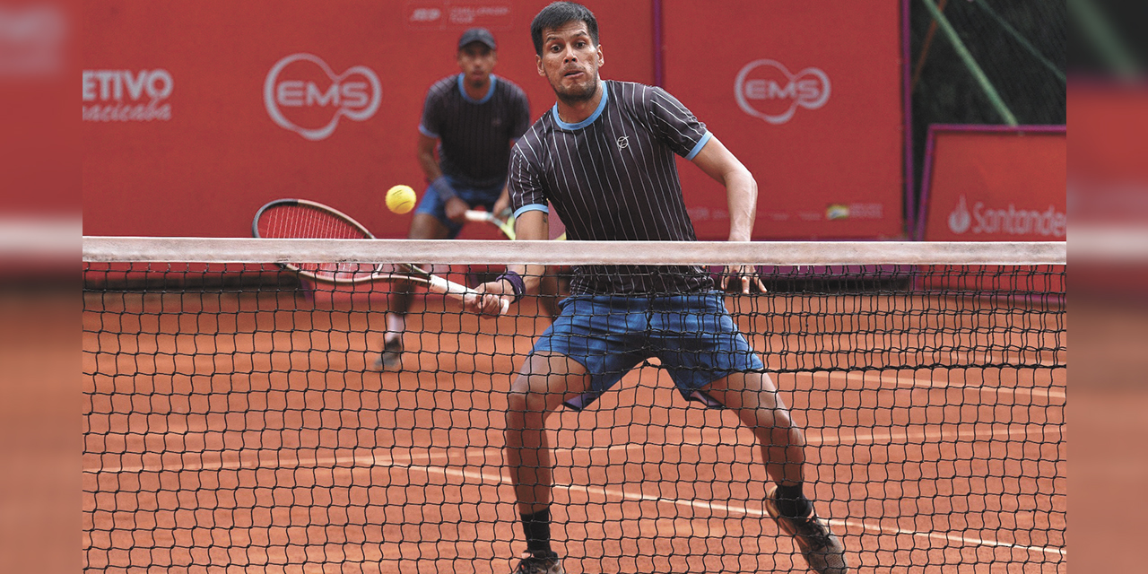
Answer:
<svg viewBox="0 0 1148 574"><path fill-rule="evenodd" d="M509 573L509 389L548 305L417 295L278 263L752 264L724 305L805 430L806 492L854 572L1066 572L1064 243L85 238L86 571ZM614 272L618 267L599 267ZM613 271L611 271L613 270ZM754 435L642 359L546 421L567 573L805 572Z"/></svg>

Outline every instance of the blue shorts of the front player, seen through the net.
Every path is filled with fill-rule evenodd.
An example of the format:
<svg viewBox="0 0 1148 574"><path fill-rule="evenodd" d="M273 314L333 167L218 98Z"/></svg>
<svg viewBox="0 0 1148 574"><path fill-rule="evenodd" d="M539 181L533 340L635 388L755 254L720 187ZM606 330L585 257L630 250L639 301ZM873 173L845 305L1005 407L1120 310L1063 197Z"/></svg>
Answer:
<svg viewBox="0 0 1148 574"><path fill-rule="evenodd" d="M718 292L682 295L574 295L534 344L581 363L590 390L566 401L582 410L651 357L688 400L721 406L703 388L730 373L761 372L761 358L737 329Z"/></svg>

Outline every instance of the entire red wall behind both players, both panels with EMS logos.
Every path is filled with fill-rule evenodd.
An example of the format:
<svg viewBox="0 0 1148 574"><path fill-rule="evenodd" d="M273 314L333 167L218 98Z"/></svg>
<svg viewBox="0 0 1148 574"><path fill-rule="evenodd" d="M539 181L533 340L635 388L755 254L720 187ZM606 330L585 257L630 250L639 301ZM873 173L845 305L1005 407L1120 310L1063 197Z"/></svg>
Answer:
<svg viewBox="0 0 1148 574"><path fill-rule="evenodd" d="M537 117L554 98L528 26L546 3L86 2L84 233L246 236L259 205L304 197L405 236L382 194L425 189L417 125L459 33L495 32L495 71ZM661 9L664 84L758 178L758 239L901 234L900 1L585 3L603 76L647 84ZM724 239L721 186L685 162L682 179L699 235Z"/></svg>

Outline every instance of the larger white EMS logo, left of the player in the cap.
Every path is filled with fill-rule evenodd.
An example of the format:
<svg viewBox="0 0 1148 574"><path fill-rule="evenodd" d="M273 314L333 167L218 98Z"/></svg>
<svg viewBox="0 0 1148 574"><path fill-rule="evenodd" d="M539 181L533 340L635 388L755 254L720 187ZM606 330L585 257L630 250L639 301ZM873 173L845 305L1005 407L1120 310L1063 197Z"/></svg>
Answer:
<svg viewBox="0 0 1148 574"><path fill-rule="evenodd" d="M379 110L382 84L365 65L336 75L313 54L276 62L263 83L263 103L280 127L318 141L334 133L339 118L364 122Z"/></svg>

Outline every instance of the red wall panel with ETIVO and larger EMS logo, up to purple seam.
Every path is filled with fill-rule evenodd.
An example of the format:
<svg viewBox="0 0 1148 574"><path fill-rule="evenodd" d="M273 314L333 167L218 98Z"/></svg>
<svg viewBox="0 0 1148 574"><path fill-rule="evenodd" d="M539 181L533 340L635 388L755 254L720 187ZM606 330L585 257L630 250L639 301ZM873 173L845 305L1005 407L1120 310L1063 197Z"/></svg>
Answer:
<svg viewBox="0 0 1148 574"><path fill-rule="evenodd" d="M529 23L549 0L85 2L84 233L247 236L279 197L406 235L390 186L416 162L426 90L458 72L463 30L499 41L495 73L553 104ZM587 0L614 77L653 83L650 2Z"/></svg>

